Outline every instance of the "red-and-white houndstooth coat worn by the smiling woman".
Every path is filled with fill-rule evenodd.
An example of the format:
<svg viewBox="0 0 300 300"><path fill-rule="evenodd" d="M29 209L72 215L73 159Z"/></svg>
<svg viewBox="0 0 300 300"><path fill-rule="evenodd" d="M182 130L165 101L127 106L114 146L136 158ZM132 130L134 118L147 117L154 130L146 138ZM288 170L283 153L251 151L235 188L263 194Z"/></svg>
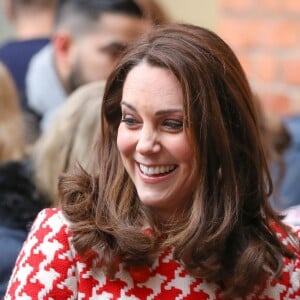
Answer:
<svg viewBox="0 0 300 300"><path fill-rule="evenodd" d="M287 237L282 236L284 242ZM300 237L300 231L297 231ZM45 209L35 220L17 259L6 300L218 300L220 288L187 274L167 249L151 269L131 272L119 264L113 280L95 259L83 261L71 244L67 221L59 209ZM134 276L133 276L134 275ZM141 279L141 280L139 280ZM246 300L300 300L300 255L285 259L281 279L267 280L259 296Z"/></svg>

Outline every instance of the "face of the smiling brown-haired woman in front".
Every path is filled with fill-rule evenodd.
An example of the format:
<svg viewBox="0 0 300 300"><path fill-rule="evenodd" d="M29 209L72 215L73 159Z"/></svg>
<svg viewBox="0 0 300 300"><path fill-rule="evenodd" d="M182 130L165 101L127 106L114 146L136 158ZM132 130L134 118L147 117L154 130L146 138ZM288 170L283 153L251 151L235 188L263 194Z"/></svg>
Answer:
<svg viewBox="0 0 300 300"><path fill-rule="evenodd" d="M170 71L144 62L129 72L121 108L117 143L124 166L140 200L168 218L181 211L195 182L182 88Z"/></svg>

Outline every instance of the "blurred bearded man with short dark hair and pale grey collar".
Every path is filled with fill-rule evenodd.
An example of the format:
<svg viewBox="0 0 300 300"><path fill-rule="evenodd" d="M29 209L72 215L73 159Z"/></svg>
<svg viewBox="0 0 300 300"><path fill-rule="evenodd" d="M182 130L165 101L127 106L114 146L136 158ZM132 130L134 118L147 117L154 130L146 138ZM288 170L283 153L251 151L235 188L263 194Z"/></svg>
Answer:
<svg viewBox="0 0 300 300"><path fill-rule="evenodd" d="M65 0L58 6L52 43L32 59L26 80L42 129L67 95L105 80L126 45L151 30L154 23L144 16L133 0Z"/></svg>

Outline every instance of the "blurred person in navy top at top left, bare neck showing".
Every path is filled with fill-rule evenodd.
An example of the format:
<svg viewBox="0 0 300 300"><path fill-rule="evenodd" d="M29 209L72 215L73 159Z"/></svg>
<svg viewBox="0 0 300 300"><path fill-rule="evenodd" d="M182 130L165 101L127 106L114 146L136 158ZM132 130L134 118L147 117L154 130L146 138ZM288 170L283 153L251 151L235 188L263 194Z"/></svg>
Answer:
<svg viewBox="0 0 300 300"><path fill-rule="evenodd" d="M9 70L19 93L28 126L26 138L37 136L38 116L28 107L25 75L32 56L50 41L58 0L4 0L5 13L14 28L14 36L0 45L0 61Z"/></svg>

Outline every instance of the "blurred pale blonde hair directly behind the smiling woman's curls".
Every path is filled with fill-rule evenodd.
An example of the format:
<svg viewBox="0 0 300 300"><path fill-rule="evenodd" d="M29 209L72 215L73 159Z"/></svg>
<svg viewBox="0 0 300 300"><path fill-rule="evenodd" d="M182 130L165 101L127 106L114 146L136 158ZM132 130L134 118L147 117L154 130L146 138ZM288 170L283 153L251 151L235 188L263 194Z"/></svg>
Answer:
<svg viewBox="0 0 300 300"><path fill-rule="evenodd" d="M86 84L66 100L55 122L33 149L35 182L40 191L58 203L58 178L80 163L90 168L93 138L98 134L104 82Z"/></svg>

